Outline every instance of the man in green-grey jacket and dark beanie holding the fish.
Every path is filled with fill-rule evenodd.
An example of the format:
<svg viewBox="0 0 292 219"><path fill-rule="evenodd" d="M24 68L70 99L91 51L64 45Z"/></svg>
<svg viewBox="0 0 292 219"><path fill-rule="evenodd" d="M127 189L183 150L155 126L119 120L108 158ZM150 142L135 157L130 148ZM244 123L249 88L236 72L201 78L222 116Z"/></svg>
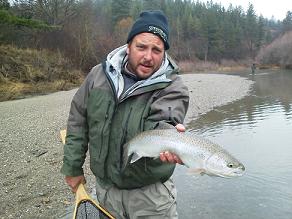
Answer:
<svg viewBox="0 0 292 219"><path fill-rule="evenodd" d="M73 191L84 183L89 149L97 198L116 218L177 218L170 179L179 157L142 158L122 171L123 145L142 131L182 125L188 91L168 57L168 23L161 11L145 11L127 44L95 66L75 94L67 127L62 173Z"/></svg>

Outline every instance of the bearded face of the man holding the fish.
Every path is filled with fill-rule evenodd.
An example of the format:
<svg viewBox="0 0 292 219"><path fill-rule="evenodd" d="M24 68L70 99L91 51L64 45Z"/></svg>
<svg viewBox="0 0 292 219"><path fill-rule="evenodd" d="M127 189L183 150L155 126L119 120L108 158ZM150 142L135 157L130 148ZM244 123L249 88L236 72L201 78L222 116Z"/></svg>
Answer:
<svg viewBox="0 0 292 219"><path fill-rule="evenodd" d="M127 48L128 69L145 79L159 69L164 58L164 43L152 33L140 33Z"/></svg>

